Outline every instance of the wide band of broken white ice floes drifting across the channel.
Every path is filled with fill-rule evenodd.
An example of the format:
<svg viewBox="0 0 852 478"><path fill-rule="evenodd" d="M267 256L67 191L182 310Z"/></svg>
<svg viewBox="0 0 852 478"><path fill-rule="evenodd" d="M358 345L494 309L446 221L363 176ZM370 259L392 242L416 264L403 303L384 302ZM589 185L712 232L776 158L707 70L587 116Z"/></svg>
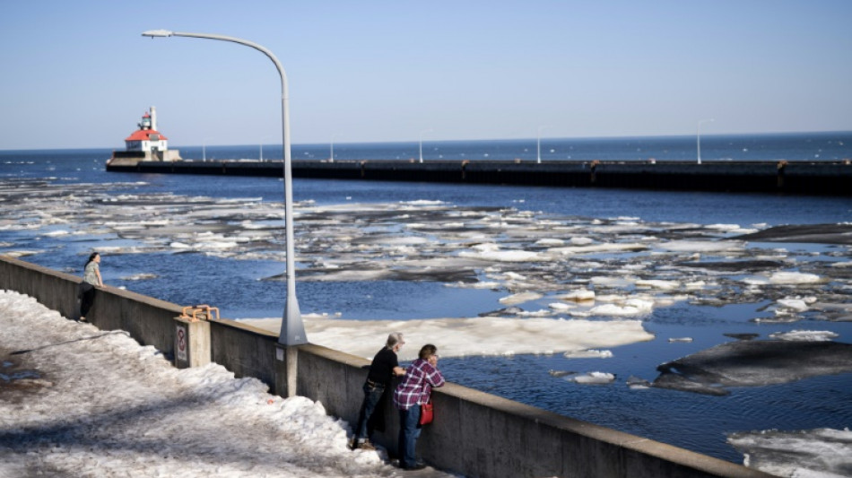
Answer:
<svg viewBox="0 0 852 478"><path fill-rule="evenodd" d="M0 228L53 234L48 236L53 240L96 234L102 237L96 249L108 255L197 253L283 263L280 203L170 193L109 194L114 187L0 185L0 196L11 206L0 213ZM14 207L24 198L25 207ZM571 317L639 317L682 300L716 305L783 300L791 286L830 304L820 297L852 287L843 263L799 262L784 249L749 246L743 238L771 239L771 232L748 231L765 224L742 228L730 223L643 222L638 217L552 216L430 198L396 203L303 201L294 204L294 221L300 281L435 281L507 291L504 303L521 308L517 317L560 301L581 302L578 308L551 308ZM842 227L852 230L836 225L831 237L841 237ZM788 230L774 229L782 235ZM807 232L817 230L810 227ZM36 253L16 250L13 244L5 249L12 256ZM281 274L263 279L284 277L282 267ZM604 300L607 296L619 299ZM627 303L631 299L643 303ZM791 309L786 317L792 320L811 312L778 309Z"/></svg>

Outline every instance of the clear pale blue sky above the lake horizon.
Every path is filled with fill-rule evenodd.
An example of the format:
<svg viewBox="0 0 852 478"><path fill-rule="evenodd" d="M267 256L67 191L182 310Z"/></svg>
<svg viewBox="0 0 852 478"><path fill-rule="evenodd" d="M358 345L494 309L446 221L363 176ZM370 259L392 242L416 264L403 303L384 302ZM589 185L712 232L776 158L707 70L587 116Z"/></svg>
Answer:
<svg viewBox="0 0 852 478"><path fill-rule="evenodd" d="M0 149L852 130L852 2L11 1ZM422 133L430 130L427 133Z"/></svg>

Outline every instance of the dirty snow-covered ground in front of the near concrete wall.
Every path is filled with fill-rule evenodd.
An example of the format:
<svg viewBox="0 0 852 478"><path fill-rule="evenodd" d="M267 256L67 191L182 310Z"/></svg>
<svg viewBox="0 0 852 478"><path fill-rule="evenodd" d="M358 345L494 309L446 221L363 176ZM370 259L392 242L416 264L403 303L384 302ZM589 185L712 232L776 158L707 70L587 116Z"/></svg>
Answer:
<svg viewBox="0 0 852 478"><path fill-rule="evenodd" d="M322 404L266 390L0 291L0 478L410 475L350 451Z"/></svg>

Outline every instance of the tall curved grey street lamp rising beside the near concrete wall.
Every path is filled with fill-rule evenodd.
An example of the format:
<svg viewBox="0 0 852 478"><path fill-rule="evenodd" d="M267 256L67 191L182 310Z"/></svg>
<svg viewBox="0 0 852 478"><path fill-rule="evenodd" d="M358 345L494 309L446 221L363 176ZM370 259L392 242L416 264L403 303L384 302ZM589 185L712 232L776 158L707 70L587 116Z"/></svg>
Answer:
<svg viewBox="0 0 852 478"><path fill-rule="evenodd" d="M289 109L289 93L287 91L287 74L284 73L284 68L281 62L278 61L271 51L245 39L234 37L224 37L222 35L212 35L208 33L186 33L170 30L148 30L143 32L143 37L193 37L198 39L218 39L222 41L231 41L239 43L247 47L255 48L256 50L268 56L278 69L278 74L281 76L281 126L282 126L282 141L284 155L284 218L286 239L287 239L287 300L284 304L284 317L281 323L281 333L278 335L278 343L283 345L301 345L308 343L305 336L305 325L301 320L301 312L299 310L299 300L296 299L296 261L293 247L293 193L292 193L292 170L290 157L290 109Z"/></svg>

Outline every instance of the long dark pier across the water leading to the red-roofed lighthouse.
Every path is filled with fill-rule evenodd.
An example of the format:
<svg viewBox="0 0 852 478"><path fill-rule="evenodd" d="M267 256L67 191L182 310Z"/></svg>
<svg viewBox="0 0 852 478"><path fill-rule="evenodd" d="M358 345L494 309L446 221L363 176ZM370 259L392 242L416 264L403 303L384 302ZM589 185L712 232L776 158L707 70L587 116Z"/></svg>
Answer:
<svg viewBox="0 0 852 478"><path fill-rule="evenodd" d="M283 177L282 161L122 161L108 171ZM852 196L850 161L292 161L293 178Z"/></svg>

